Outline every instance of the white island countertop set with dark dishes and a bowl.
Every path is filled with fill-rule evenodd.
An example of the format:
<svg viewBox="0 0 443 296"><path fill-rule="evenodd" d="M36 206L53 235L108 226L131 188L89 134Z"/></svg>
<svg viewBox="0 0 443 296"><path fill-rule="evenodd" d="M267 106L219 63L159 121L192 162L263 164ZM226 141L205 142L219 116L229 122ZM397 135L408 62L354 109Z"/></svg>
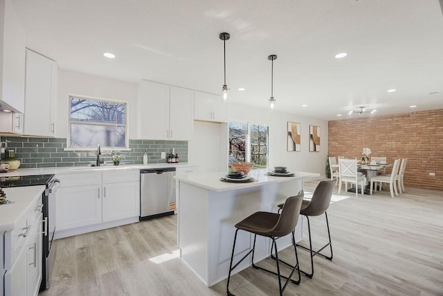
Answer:
<svg viewBox="0 0 443 296"><path fill-rule="evenodd" d="M263 184L271 184L278 182L287 182L289 180L298 180L298 179L309 179L319 177L318 173L306 173L306 172L293 172L295 176L293 177L275 177L271 175L266 175L266 169L257 169L249 172L249 177L254 178L254 182L248 183L230 183L220 181L221 177L226 175L226 172L223 173L192 173L189 175L175 176L176 180L181 182L185 182L188 184L192 184L195 186L199 186L204 189L208 189L210 191L228 191L241 189L246 187L253 186L262 186Z"/></svg>

